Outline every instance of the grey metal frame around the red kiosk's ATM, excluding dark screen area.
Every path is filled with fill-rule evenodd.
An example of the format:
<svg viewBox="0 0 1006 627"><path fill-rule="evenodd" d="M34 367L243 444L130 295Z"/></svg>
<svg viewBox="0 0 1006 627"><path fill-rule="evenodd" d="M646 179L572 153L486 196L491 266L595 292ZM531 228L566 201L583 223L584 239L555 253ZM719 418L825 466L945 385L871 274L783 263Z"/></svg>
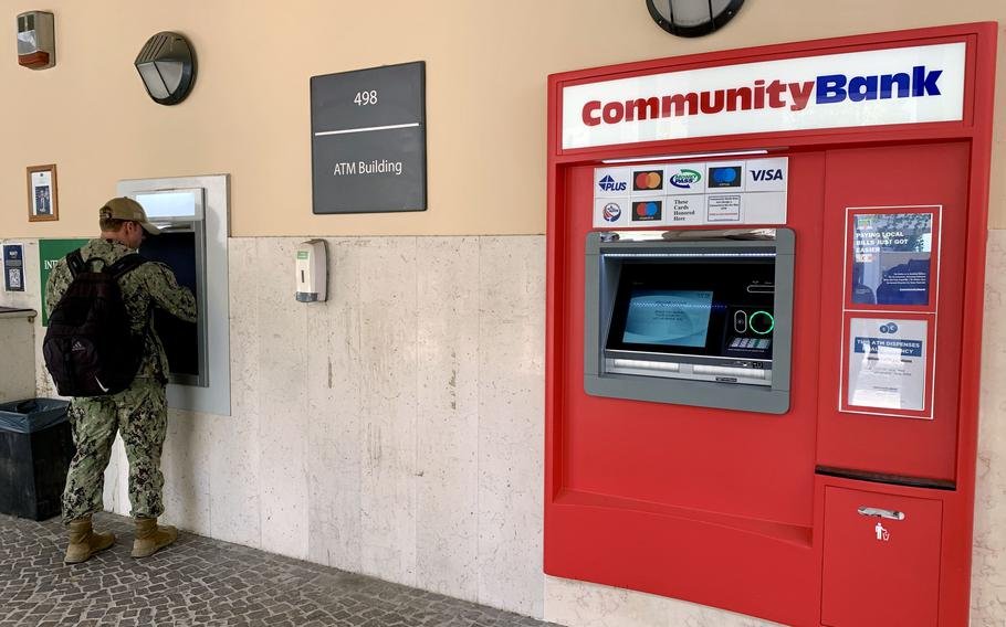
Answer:
<svg viewBox="0 0 1006 627"><path fill-rule="evenodd" d="M788 229L593 232L585 267L584 387L595 396L784 414L789 410L795 240ZM768 359L611 350L609 333L627 267L654 275L717 264L742 274L753 259L774 265ZM725 268L724 268L725 266ZM717 286L709 286L715 290ZM748 287L751 291L751 287ZM769 291L766 286L767 299ZM745 322L746 323L746 322ZM693 351L694 352L694 351ZM756 370L757 369L757 370Z"/></svg>

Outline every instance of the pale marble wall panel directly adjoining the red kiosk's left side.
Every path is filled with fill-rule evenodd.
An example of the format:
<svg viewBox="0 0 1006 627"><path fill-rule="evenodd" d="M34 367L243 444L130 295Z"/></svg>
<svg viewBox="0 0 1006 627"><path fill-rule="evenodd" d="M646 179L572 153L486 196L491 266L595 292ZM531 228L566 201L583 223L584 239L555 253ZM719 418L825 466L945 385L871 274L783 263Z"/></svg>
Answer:
<svg viewBox="0 0 1006 627"><path fill-rule="evenodd" d="M541 616L545 240L479 259L479 601Z"/></svg>

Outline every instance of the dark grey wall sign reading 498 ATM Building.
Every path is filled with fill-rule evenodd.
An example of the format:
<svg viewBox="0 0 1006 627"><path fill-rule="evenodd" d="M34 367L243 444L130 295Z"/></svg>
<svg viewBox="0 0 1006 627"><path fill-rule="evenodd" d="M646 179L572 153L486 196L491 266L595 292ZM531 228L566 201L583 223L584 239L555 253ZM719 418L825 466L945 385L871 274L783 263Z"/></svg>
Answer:
<svg viewBox="0 0 1006 627"><path fill-rule="evenodd" d="M425 211L426 63L311 78L313 212Z"/></svg>

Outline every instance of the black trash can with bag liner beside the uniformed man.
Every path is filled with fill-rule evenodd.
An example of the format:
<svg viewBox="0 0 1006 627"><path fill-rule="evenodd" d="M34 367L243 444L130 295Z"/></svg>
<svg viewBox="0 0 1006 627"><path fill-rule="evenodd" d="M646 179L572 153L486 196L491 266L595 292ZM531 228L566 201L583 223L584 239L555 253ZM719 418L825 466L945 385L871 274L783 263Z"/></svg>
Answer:
<svg viewBox="0 0 1006 627"><path fill-rule="evenodd" d="M66 401L0 403L0 513L45 520L60 513L75 451Z"/></svg>

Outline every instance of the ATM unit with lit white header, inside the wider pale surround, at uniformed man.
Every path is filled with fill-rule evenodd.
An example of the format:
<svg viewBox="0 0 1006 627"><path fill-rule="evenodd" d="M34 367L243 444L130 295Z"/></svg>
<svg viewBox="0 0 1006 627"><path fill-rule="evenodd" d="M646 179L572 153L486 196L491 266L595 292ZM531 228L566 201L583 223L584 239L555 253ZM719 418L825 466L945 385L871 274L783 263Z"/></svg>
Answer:
<svg viewBox="0 0 1006 627"><path fill-rule="evenodd" d="M197 322L180 320L159 309L150 323L168 357L168 380L180 385L206 387L206 232L202 189L170 189L135 194L159 235L147 237L139 253L170 267L178 284L196 296Z"/></svg>

